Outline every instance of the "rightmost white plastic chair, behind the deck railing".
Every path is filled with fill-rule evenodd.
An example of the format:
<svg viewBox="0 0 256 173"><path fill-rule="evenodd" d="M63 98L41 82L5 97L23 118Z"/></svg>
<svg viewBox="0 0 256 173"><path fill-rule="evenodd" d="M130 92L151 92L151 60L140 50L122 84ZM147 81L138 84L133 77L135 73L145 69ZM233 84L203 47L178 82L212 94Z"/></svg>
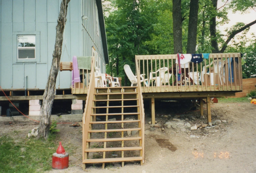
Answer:
<svg viewBox="0 0 256 173"><path fill-rule="evenodd" d="M202 73L200 75L200 80L202 82L204 82L204 75L205 75L205 68L210 68L214 63L214 72L211 73L211 85L214 85L214 75L215 74L218 74L219 75L219 82L220 82L220 85L222 85L222 78L221 78L221 74L223 73L222 71L222 68L223 68L223 64L224 64L224 61L222 60L214 60L213 62L210 63L210 65L205 65L203 67L203 70L202 70ZM218 73L219 71L219 73ZM206 75L210 75L210 73L206 73ZM213 77L212 77L213 76Z"/></svg>

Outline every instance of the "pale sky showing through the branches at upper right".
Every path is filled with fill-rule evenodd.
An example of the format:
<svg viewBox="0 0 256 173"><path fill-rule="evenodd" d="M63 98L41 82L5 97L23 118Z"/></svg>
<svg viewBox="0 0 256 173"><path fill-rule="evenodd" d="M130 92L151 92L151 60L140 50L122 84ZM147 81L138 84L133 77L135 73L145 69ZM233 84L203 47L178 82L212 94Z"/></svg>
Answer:
<svg viewBox="0 0 256 173"><path fill-rule="evenodd" d="M226 1L218 0L218 6L217 9L225 4ZM232 10L228 12L228 18L230 19L228 24L225 25L218 25L218 29L221 31L222 34L226 34L224 31L228 27L232 27L237 22L243 22L245 24L248 24L256 19L256 11L250 10L248 13L241 14L241 12L233 13ZM249 32L247 33L247 37L250 38L250 34L254 33L256 35L256 24L252 25L250 27ZM241 34L241 33L240 33Z"/></svg>

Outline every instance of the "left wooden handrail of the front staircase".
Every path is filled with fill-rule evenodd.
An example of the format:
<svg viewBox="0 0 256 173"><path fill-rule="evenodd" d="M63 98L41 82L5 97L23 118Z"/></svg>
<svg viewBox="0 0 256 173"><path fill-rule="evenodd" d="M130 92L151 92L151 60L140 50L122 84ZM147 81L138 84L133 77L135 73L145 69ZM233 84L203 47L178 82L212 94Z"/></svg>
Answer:
<svg viewBox="0 0 256 173"><path fill-rule="evenodd" d="M93 51L93 50L92 50ZM83 113L83 160L85 160L85 147L87 145L87 138L88 138L88 131L90 127L90 114L92 113L91 107L93 98L94 98L94 88L95 88L95 74L94 74L94 60L95 60L95 54L93 53L94 56L91 58L91 74L90 74L90 82L88 86L88 92L87 92L87 97L86 97L86 104L85 104L85 109Z"/></svg>

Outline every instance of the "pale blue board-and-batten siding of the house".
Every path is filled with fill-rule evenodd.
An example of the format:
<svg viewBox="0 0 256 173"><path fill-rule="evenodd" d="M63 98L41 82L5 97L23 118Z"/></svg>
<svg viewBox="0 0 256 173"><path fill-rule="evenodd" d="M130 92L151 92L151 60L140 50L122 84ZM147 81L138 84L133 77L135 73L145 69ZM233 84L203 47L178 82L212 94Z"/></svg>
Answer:
<svg viewBox="0 0 256 173"><path fill-rule="evenodd" d="M51 68L55 45L57 18L62 0L0 0L0 86L3 89L44 89ZM101 58L101 71L105 63L103 43L99 29L96 33L96 1L71 0L66 17L62 62L73 56L91 56L95 47ZM82 15L88 17L82 19ZM83 27L83 25L85 27ZM17 35L36 35L36 59L17 61ZM66 46L64 50L64 46ZM70 71L59 72L56 88L70 88Z"/></svg>

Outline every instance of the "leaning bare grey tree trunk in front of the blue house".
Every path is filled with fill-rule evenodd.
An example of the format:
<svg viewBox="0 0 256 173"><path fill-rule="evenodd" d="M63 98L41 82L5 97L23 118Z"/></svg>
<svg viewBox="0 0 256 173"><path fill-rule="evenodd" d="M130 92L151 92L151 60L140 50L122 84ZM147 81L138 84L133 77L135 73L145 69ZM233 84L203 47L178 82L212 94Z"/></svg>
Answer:
<svg viewBox="0 0 256 173"><path fill-rule="evenodd" d="M59 63L61 60L62 43L63 43L63 31L65 24L65 17L67 15L67 6L70 0L65 0L61 3L61 10L58 17L58 24L56 26L56 40L53 51L52 66L48 76L48 81L43 93L43 103L40 110L40 123L39 123L39 135L48 138L51 122L51 112L54 97L56 95L56 78L59 71ZM63 4L64 3L64 4Z"/></svg>

